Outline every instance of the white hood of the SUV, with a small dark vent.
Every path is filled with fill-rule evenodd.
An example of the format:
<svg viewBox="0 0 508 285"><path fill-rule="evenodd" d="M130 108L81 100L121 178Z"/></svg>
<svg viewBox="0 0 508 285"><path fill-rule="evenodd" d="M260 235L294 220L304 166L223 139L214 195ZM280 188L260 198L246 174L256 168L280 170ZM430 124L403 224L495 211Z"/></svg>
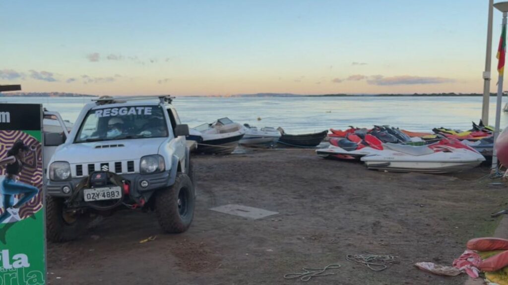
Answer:
<svg viewBox="0 0 508 285"><path fill-rule="evenodd" d="M139 160L145 155L158 154L167 137L106 140L62 145L52 161L97 163L103 161Z"/></svg>

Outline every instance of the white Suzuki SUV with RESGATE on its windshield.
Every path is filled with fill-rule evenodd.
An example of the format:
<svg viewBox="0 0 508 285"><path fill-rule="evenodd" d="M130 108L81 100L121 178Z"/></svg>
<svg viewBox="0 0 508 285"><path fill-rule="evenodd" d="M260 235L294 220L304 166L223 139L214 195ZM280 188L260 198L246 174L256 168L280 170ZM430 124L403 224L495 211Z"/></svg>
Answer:
<svg viewBox="0 0 508 285"><path fill-rule="evenodd" d="M47 168L47 236L75 239L92 213L153 209L166 232L194 216L194 171L172 97L101 97L84 106Z"/></svg>

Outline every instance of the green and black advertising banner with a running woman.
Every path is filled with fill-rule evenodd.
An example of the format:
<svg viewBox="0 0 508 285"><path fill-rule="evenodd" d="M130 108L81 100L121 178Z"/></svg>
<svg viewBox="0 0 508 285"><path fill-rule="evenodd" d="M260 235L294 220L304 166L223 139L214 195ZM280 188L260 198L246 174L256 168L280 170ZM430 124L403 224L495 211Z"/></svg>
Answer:
<svg viewBox="0 0 508 285"><path fill-rule="evenodd" d="M42 116L0 103L0 285L46 284Z"/></svg>

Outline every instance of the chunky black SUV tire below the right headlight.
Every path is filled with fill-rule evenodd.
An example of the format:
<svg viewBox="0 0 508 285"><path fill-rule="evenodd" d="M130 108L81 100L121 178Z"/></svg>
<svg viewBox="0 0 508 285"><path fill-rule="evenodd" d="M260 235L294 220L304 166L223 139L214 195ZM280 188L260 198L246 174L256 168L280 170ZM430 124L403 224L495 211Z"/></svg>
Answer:
<svg viewBox="0 0 508 285"><path fill-rule="evenodd" d="M155 214L167 233L185 232L194 218L194 185L187 174L176 174L175 183L155 197Z"/></svg>

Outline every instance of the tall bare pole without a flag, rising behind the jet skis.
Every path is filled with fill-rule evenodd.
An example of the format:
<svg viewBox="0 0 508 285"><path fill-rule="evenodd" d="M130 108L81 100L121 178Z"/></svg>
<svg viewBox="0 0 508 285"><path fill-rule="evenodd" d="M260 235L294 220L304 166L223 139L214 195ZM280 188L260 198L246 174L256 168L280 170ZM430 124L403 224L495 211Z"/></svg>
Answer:
<svg viewBox="0 0 508 285"><path fill-rule="evenodd" d="M485 72L483 73L483 105L482 121L489 125L489 96L490 96L490 62L492 60L492 14L494 0L489 0L489 22L487 24L487 55L485 57Z"/></svg>

